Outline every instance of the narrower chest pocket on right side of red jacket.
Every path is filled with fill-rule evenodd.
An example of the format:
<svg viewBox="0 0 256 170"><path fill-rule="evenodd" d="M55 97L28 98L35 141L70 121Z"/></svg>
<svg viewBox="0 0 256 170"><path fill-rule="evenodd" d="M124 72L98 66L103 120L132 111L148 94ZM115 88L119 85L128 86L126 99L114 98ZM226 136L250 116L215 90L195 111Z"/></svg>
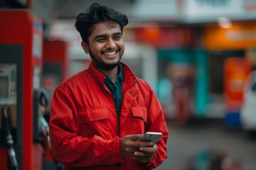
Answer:
<svg viewBox="0 0 256 170"><path fill-rule="evenodd" d="M134 133L143 133L146 132L146 123L147 123L147 111L146 107L133 107L132 108L132 125L134 128Z"/></svg>

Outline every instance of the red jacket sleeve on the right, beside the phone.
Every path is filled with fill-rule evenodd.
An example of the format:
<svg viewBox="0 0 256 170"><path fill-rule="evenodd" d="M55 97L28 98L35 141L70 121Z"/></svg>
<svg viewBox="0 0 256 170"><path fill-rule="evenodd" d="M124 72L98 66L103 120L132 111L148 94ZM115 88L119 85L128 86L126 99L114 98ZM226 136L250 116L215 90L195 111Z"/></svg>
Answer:
<svg viewBox="0 0 256 170"><path fill-rule="evenodd" d="M168 128L166 125L166 120L159 103L158 98L154 94L154 91L151 89L149 93L149 107L148 107L148 122L147 122L147 132L162 132L163 136L156 143L158 149L154 154L154 157L148 164L145 164L146 167L153 169L156 166L159 166L167 158L166 144L169 136Z"/></svg>

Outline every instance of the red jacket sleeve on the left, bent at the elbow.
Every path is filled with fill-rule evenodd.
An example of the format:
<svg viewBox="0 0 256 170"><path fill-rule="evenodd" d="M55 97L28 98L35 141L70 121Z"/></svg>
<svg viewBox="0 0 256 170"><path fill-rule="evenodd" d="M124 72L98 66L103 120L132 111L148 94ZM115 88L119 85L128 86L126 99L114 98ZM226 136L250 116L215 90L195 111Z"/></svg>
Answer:
<svg viewBox="0 0 256 170"><path fill-rule="evenodd" d="M113 165L124 162L121 139L91 139L78 135L75 103L57 88L50 108L50 147L56 161L72 167ZM100 155L100 157L99 157Z"/></svg>

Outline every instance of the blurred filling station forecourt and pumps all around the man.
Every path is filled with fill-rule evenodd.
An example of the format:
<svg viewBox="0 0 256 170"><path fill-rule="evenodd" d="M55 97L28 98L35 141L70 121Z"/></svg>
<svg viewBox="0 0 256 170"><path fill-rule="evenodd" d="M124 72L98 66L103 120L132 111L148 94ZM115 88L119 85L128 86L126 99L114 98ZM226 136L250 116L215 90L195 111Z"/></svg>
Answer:
<svg viewBox="0 0 256 170"><path fill-rule="evenodd" d="M157 169L255 170L255 0L0 0L3 169L58 169L41 96L50 103L90 63L74 24L93 2L129 18L122 61L153 87L169 127Z"/></svg>

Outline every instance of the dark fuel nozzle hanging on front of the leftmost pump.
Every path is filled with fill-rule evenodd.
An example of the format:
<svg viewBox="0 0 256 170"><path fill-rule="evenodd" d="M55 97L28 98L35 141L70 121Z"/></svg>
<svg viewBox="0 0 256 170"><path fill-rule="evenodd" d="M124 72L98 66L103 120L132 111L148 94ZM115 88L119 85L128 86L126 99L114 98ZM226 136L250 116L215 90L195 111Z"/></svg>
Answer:
<svg viewBox="0 0 256 170"><path fill-rule="evenodd" d="M6 148L11 159L11 166L14 170L18 170L18 162L16 159L16 153L14 150L14 140L11 135L11 119L9 118L10 108L2 107L1 108L1 120L4 130L4 135L6 136Z"/></svg>

